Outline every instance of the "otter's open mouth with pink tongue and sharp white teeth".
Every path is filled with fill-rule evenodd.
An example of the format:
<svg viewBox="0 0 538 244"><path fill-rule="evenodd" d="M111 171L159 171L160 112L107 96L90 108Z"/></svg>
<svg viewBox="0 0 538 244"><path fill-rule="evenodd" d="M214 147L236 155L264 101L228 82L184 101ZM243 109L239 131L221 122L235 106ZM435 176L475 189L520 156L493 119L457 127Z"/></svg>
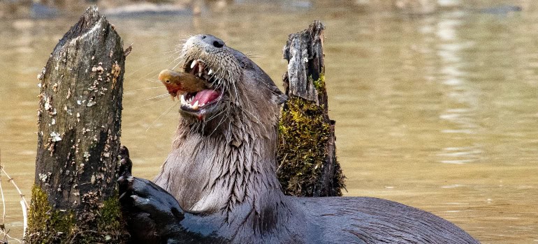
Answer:
<svg viewBox="0 0 538 244"><path fill-rule="evenodd" d="M209 87L201 91L186 93L181 96L181 109L192 114L204 114L215 105L222 97L219 89L219 80L215 77L215 72L201 60L191 60L183 67L185 73L195 75L203 80ZM216 87L212 87L215 86Z"/></svg>

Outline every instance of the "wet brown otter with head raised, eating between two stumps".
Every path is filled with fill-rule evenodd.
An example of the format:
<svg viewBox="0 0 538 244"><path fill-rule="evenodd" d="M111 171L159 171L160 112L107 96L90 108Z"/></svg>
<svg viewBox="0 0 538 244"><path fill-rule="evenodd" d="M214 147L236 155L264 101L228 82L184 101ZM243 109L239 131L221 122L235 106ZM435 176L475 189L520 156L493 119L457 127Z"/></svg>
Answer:
<svg viewBox="0 0 538 244"><path fill-rule="evenodd" d="M286 96L215 36L192 36L180 57L182 72L208 87L184 95L160 173L135 178L120 153L119 201L134 243L479 243L394 201L285 196L275 158Z"/></svg>

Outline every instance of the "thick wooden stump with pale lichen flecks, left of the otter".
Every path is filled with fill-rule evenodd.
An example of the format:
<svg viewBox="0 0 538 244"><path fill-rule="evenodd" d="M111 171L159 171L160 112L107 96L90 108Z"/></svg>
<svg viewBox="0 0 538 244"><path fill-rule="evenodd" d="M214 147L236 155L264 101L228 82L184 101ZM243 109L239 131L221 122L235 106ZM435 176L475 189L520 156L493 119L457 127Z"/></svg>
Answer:
<svg viewBox="0 0 538 244"><path fill-rule="evenodd" d="M122 243L117 155L124 50L90 7L38 78L38 147L29 243Z"/></svg>

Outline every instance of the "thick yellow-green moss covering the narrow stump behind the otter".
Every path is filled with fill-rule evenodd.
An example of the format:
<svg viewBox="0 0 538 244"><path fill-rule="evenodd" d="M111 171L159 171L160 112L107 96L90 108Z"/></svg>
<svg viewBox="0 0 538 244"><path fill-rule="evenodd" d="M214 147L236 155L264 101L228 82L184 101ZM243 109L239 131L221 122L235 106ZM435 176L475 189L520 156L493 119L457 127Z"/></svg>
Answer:
<svg viewBox="0 0 538 244"><path fill-rule="evenodd" d="M324 86L323 78L319 81L318 85ZM324 117L323 106L292 96L283 109L278 130L278 176L284 193L313 196L328 156L330 124ZM342 195L344 176L340 166L336 167L333 185L336 195Z"/></svg>

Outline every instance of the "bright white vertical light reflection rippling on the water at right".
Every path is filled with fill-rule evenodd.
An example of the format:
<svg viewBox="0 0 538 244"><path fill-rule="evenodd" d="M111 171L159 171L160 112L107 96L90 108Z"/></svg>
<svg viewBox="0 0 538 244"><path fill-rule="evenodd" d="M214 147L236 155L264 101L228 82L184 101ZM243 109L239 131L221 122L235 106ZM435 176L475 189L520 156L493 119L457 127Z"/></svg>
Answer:
<svg viewBox="0 0 538 244"><path fill-rule="evenodd" d="M458 165L477 162L481 160L481 154L484 153L481 146L473 142L474 138L479 137L478 134L481 131L474 118L474 114L480 110L477 101L480 91L472 87L468 80L470 74L464 70L470 64L463 56L463 52L466 49L474 49L476 43L462 41L458 29L463 24L462 19L449 17L439 20L436 32L439 40L437 56L443 66L442 76L438 82L446 86L446 100L453 104L439 115L439 119L449 122L449 128L443 128L441 132L454 134L451 140L454 144L442 148L437 156L439 162ZM463 140L457 139L458 134L469 136L465 137L465 142L462 142Z"/></svg>

